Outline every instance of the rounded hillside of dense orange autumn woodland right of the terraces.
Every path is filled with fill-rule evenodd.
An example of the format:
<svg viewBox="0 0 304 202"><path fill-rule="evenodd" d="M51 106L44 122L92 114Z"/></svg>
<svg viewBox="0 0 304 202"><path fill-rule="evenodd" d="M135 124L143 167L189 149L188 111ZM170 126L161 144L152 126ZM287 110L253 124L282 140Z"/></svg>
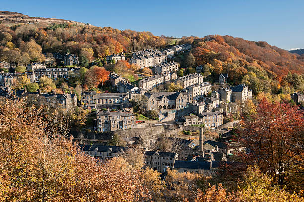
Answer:
<svg viewBox="0 0 304 202"><path fill-rule="evenodd" d="M192 67L205 65L204 74L211 74L210 79L216 80L220 73L228 73L230 84L245 83L256 93L289 94L304 88L302 57L267 42L210 35L203 38L187 37L179 43L193 44L195 64ZM184 67L189 65L187 63L183 64Z"/></svg>

